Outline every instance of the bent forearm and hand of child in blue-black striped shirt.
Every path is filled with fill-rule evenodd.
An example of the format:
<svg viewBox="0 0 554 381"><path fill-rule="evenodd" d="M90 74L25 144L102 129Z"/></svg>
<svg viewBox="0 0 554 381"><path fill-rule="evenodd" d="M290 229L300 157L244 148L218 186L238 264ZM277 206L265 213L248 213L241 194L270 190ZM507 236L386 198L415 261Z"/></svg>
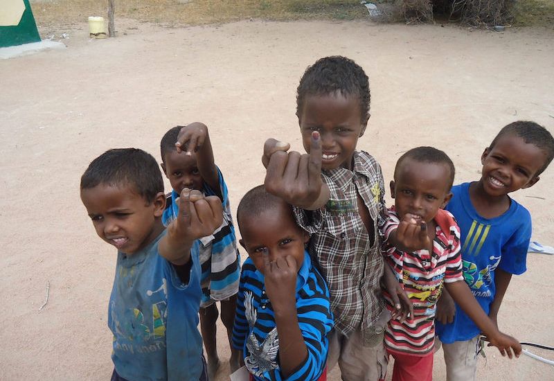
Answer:
<svg viewBox="0 0 554 381"><path fill-rule="evenodd" d="M265 292L274 310L279 337L280 371L283 378L287 378L307 357L306 344L296 314L298 267L292 256L269 262L267 249L263 253L263 259Z"/></svg>

